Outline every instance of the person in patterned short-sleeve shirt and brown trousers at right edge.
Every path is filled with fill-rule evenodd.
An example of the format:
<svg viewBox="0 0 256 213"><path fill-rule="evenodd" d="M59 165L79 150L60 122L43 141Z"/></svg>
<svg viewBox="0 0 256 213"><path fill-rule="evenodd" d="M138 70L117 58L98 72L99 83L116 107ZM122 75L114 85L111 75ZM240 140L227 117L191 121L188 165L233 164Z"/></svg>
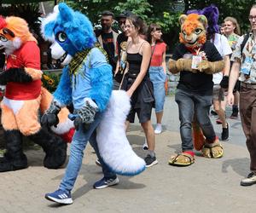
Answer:
<svg viewBox="0 0 256 213"><path fill-rule="evenodd" d="M233 105L233 89L239 77L241 125L247 139L251 160L251 172L247 178L241 180L241 186L251 186L256 183L256 4L252 6L248 20L251 32L238 39L231 57L231 61L234 62L230 71L228 91L228 102Z"/></svg>

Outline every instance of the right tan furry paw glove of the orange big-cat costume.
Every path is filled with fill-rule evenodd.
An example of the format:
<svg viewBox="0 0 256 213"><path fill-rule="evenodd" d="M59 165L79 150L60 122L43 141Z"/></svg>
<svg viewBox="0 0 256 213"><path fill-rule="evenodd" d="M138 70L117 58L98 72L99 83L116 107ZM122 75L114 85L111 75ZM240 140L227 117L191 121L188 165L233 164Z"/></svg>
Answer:
<svg viewBox="0 0 256 213"><path fill-rule="evenodd" d="M222 72L224 69L224 60L218 60L218 61L208 61L208 60L202 60L201 63L198 66L198 69L200 72L206 72L207 74L214 74L218 72Z"/></svg>

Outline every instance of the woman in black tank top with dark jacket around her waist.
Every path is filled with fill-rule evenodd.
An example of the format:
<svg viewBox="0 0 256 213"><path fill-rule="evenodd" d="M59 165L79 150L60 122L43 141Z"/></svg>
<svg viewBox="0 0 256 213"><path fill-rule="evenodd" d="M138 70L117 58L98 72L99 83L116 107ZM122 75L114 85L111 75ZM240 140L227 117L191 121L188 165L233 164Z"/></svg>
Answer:
<svg viewBox="0 0 256 213"><path fill-rule="evenodd" d="M134 122L135 114L139 118L148 143L146 166L157 164L154 153L154 129L151 124L151 112L154 107L153 85L149 79L148 67L151 57L150 44L140 35L144 33L143 20L136 15L126 19L125 32L131 37L127 44L128 72L125 74L122 89L131 97L131 111L126 126Z"/></svg>

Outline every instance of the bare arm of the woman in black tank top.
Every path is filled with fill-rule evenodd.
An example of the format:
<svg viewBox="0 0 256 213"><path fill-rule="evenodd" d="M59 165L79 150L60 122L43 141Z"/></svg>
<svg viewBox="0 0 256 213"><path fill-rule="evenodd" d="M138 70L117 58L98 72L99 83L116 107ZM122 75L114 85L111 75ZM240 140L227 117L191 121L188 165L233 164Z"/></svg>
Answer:
<svg viewBox="0 0 256 213"><path fill-rule="evenodd" d="M150 57L151 57L151 47L150 47L149 43L143 43L142 54L143 54L143 61L141 64L140 72L137 75L135 82L132 83L131 88L127 91L127 94L130 97L134 93L134 91L137 89L139 84L142 83L143 78L145 77L145 75L148 71L149 61L150 61Z"/></svg>

